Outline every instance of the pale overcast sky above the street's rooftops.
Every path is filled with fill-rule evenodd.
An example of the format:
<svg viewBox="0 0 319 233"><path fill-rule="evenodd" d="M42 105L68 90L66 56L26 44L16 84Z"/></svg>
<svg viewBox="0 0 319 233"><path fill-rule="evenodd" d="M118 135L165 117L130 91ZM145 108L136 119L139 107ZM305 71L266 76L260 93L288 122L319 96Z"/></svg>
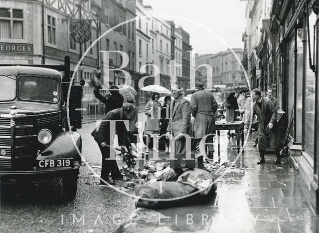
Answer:
<svg viewBox="0 0 319 233"><path fill-rule="evenodd" d="M171 15L161 17L173 20L175 27L181 25L190 34L193 50L199 54L217 53L228 46L244 47L241 39L247 24L246 3L245 0L143 0L156 14Z"/></svg>

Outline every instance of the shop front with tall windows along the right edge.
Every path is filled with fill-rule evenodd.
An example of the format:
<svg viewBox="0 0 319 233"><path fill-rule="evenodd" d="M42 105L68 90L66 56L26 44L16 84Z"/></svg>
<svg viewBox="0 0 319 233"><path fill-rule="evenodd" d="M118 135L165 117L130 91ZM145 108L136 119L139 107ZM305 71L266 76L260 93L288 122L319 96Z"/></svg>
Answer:
<svg viewBox="0 0 319 233"><path fill-rule="evenodd" d="M274 1L273 7L279 1ZM278 47L283 56L277 75L277 95L288 121L290 161L300 172L319 214L318 191L318 11L317 1L287 0L272 18L280 21ZM317 14L316 14L316 13ZM314 29L316 40L314 43ZM316 46L314 46L316 44ZM314 50L316 48L316 50ZM311 59L310 59L311 58ZM316 65L313 63L316 58ZM312 62L312 63L310 63Z"/></svg>

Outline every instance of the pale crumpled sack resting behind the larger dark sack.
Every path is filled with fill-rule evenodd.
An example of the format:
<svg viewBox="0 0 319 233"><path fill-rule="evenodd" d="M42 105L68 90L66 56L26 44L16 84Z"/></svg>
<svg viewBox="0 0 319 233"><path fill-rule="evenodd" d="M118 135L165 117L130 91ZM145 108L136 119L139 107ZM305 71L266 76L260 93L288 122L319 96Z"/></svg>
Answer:
<svg viewBox="0 0 319 233"><path fill-rule="evenodd" d="M217 186L214 181L215 179L212 177L211 173L198 168L187 170L177 179L177 182L190 185L197 190L200 190L199 195L208 195L215 192Z"/></svg>

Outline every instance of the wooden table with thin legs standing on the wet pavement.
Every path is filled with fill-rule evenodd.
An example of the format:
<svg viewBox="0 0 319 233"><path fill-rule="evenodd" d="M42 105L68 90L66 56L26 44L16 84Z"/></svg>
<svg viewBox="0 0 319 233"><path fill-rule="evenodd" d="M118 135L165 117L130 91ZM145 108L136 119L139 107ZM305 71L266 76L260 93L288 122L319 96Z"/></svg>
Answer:
<svg viewBox="0 0 319 233"><path fill-rule="evenodd" d="M218 141L218 151L220 149L220 130L235 130L237 138L237 153L239 153L239 133L241 133L241 145L244 145L244 123L245 121L216 121L216 130L217 130L217 141Z"/></svg>

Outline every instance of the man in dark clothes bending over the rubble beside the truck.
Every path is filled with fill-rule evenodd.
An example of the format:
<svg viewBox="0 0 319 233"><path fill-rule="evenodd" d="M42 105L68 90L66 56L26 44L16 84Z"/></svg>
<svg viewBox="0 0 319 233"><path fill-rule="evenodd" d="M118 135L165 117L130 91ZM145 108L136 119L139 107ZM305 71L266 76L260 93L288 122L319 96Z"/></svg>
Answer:
<svg viewBox="0 0 319 233"><path fill-rule="evenodd" d="M110 146L111 138L115 138L115 133L118 135L118 143L121 146L121 150L125 151L125 146L129 150L130 148L130 139L128 131L124 125L123 121L131 117L134 111L134 105L130 103L123 104L123 107L113 109L102 118L102 122L97 129L94 129L91 135L94 137L94 140L98 143L101 154L102 154L102 170L101 170L101 180L100 184L107 185L107 183L114 185L115 179L123 179L116 160L106 160L110 158L111 150ZM116 121L116 132L111 131L110 121ZM114 151L115 153L115 151ZM111 172L112 179L109 178ZM106 183L107 182L107 183Z"/></svg>

